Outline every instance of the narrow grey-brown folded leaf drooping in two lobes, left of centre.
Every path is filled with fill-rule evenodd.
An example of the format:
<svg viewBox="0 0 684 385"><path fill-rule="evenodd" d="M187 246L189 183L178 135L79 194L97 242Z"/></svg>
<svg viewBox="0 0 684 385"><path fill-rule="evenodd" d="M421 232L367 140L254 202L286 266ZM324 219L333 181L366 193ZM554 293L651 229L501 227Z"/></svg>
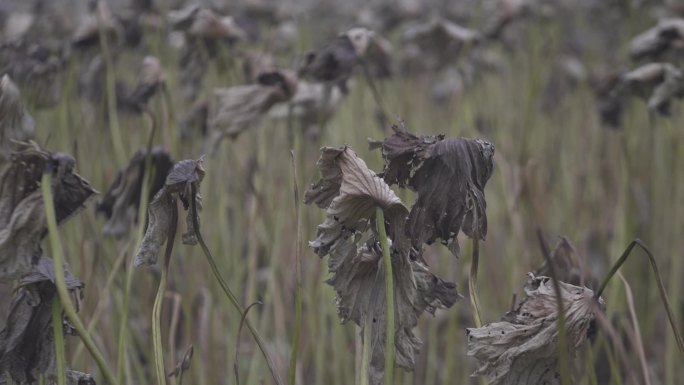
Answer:
<svg viewBox="0 0 684 385"><path fill-rule="evenodd" d="M148 224L145 237L135 256L135 266L153 265L157 262L159 250L166 243L171 230L174 210L177 210L177 200L183 203L188 211L188 232L183 234L183 243L194 245L195 226L193 221L199 223L199 213L190 210L191 199L195 199L197 208L201 206L199 185L204 178L204 157L197 160L182 160L176 163L164 182L164 187L154 196L148 209ZM195 191L193 196L192 191Z"/></svg>

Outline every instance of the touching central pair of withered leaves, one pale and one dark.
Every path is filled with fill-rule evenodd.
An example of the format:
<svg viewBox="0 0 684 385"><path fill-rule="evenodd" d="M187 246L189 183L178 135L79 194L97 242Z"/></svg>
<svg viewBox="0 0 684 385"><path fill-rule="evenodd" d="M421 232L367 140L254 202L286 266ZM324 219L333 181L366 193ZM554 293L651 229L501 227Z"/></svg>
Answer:
<svg viewBox="0 0 684 385"><path fill-rule="evenodd" d="M441 239L457 253L453 244L461 229L484 237L484 185L494 153L494 147L482 140L418 137L403 127L394 129L394 136L374 143L382 147L387 161L381 175L369 170L349 147L326 147L317 163L321 179L305 195L305 203L326 210L310 246L319 256L329 256L328 283L337 293L342 321L352 320L362 328L366 320L372 321L372 383L379 383L384 374L387 316L376 208L384 212L391 240L395 363L411 370L421 344L413 334L418 317L451 307L459 297L454 283L429 271L421 258L423 245ZM391 184L418 192L410 211Z"/></svg>

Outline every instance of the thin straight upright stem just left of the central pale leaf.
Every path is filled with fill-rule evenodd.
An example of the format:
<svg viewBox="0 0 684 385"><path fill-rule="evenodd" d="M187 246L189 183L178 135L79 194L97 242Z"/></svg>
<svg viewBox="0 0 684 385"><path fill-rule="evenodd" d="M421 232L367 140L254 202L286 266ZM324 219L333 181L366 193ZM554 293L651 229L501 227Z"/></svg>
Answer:
<svg viewBox="0 0 684 385"><path fill-rule="evenodd" d="M291 120L292 108L288 109L288 121ZM291 125L290 125L291 127ZM290 151L292 160L292 181L294 183L294 209L297 223L297 240L295 244L295 323L292 335L292 351L290 352L290 367L288 369L288 385L295 385L297 378L297 353L299 351L299 337L302 331L302 223L299 218L299 187L297 186L297 166L295 165L294 150Z"/></svg>

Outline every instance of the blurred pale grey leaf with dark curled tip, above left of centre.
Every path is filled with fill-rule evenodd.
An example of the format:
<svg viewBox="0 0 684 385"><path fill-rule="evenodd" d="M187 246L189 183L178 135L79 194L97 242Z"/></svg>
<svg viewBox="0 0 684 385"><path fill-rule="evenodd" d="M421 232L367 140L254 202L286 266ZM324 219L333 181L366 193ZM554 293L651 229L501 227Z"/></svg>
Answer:
<svg viewBox="0 0 684 385"><path fill-rule="evenodd" d="M273 105L289 100L295 91L296 80L282 71L262 74L257 84L214 90L208 116L211 145L257 127Z"/></svg>

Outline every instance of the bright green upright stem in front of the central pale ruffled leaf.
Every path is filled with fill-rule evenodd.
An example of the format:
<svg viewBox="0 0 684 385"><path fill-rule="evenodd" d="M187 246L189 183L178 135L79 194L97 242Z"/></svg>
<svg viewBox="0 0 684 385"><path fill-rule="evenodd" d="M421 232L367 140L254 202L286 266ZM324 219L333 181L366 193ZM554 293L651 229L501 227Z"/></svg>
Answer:
<svg viewBox="0 0 684 385"><path fill-rule="evenodd" d="M380 247L382 247L382 259L385 261L385 294L387 296L385 385L392 385L394 377L394 275L392 272L392 258L390 258L389 244L387 242L387 231L385 230L385 214L382 212L381 207L375 209L375 227L378 229ZM365 340L364 344L366 344Z"/></svg>

